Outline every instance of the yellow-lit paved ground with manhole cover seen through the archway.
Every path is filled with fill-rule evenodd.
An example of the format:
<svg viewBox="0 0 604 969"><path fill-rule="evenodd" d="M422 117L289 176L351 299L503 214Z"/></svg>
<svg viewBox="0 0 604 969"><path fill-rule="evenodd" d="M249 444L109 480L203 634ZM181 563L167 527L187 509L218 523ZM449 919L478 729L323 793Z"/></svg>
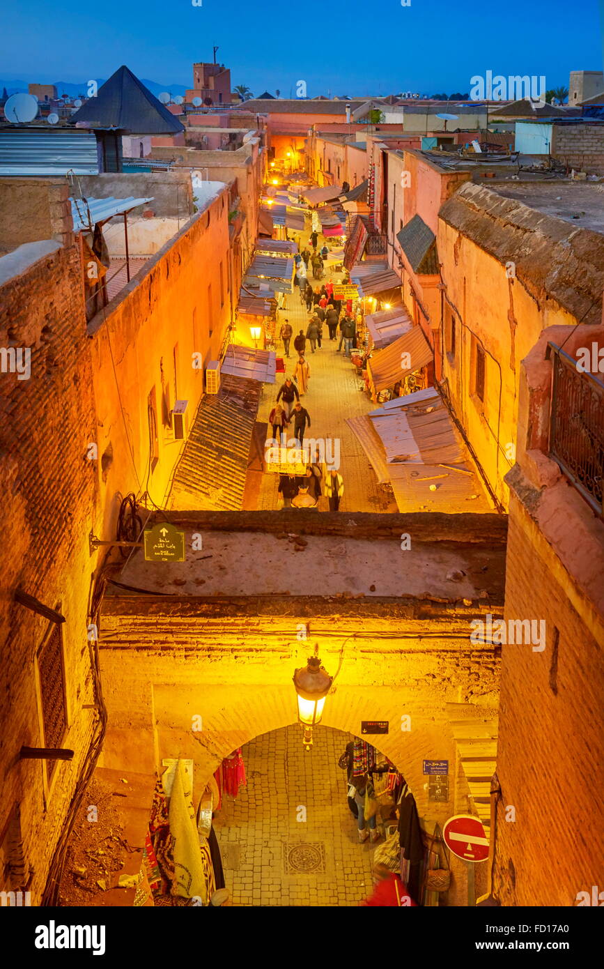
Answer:
<svg viewBox="0 0 604 969"><path fill-rule="evenodd" d="M319 726L314 738L307 753L294 724L243 747L248 786L214 821L232 905L354 906L371 894L376 846L359 843L338 766L351 737Z"/></svg>

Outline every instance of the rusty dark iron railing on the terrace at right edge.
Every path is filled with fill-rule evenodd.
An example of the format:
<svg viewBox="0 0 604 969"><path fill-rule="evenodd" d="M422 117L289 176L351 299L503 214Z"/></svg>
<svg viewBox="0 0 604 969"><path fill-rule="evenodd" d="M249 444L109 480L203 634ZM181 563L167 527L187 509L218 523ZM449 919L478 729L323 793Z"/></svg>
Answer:
<svg viewBox="0 0 604 969"><path fill-rule="evenodd" d="M604 383L582 372L577 360L555 343L549 345L549 356L553 369L550 457L602 517Z"/></svg>

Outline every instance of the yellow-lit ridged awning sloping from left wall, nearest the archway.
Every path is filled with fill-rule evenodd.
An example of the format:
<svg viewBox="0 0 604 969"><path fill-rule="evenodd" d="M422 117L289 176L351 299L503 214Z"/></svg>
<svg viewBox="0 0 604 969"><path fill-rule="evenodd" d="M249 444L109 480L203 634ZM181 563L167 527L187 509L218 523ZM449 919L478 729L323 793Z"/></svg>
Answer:
<svg viewBox="0 0 604 969"><path fill-rule="evenodd" d="M171 490L173 508L240 511L261 384L221 376L197 408Z"/></svg>

